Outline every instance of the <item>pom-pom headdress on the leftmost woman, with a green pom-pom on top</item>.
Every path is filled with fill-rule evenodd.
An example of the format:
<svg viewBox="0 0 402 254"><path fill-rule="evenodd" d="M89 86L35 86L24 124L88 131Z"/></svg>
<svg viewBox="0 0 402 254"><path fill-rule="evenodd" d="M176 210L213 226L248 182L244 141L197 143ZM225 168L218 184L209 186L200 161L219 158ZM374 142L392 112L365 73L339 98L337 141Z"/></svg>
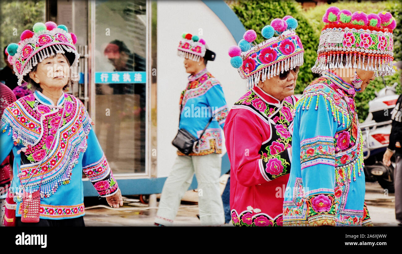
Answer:
<svg viewBox="0 0 402 254"><path fill-rule="evenodd" d="M14 66L18 85L21 86L24 77L31 72L43 59L63 53L68 58L70 66L78 63L78 54L74 44L77 41L74 33L68 33L65 25L56 25L54 22L36 23L33 31L25 30L21 34L21 41L11 43L7 47L8 61Z"/></svg>

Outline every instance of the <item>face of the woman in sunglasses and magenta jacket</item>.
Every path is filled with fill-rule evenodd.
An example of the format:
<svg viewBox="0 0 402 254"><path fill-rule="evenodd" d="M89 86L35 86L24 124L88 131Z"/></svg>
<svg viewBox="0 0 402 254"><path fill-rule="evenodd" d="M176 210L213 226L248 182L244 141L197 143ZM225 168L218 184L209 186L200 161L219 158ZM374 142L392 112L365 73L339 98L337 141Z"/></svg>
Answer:
<svg viewBox="0 0 402 254"><path fill-rule="evenodd" d="M287 74L287 72L289 74ZM265 82L260 82L258 86L263 89L264 92L266 92L267 94L270 94L281 101L287 96L293 95L293 93L295 92L299 67L296 67L293 70L289 70L287 72L266 79Z"/></svg>

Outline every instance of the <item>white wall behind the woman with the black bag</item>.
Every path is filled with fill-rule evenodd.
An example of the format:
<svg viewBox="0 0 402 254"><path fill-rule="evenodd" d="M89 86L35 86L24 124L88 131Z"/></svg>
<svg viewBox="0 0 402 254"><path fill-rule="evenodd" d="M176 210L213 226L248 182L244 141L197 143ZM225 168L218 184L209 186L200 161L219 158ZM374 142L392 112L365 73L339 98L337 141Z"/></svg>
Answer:
<svg viewBox="0 0 402 254"><path fill-rule="evenodd" d="M198 35L199 29L200 38L216 53L207 69L221 82L228 107L246 92L246 81L228 55L237 42L215 13L201 1L158 1L158 177L168 176L176 158L171 142L178 128L180 93L188 83L183 58L177 56L178 42L183 32Z"/></svg>

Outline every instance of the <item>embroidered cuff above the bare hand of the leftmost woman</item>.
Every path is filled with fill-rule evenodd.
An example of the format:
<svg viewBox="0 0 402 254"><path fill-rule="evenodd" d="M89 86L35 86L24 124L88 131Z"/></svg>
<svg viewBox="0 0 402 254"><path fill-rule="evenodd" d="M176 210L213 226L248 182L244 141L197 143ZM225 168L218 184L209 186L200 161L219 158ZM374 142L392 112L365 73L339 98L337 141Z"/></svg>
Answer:
<svg viewBox="0 0 402 254"><path fill-rule="evenodd" d="M82 169L101 197L112 196L117 192L117 182L113 177L113 172L109 167L105 154L97 162Z"/></svg>

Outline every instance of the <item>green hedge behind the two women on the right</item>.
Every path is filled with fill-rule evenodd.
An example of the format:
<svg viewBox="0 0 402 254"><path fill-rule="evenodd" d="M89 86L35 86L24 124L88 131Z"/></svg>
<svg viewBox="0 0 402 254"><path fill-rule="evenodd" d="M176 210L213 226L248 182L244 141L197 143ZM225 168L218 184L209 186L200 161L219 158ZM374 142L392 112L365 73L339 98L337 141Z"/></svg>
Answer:
<svg viewBox="0 0 402 254"><path fill-rule="evenodd" d="M318 76L310 70L316 61L317 47L320 38L320 33L324 23L322 16L326 9L330 6L337 6L341 10L348 9L351 12L363 11L366 14L378 13L386 10L392 13L396 19L397 27L394 29L394 60L402 60L402 3L399 0L390 1L339 1L334 4L320 4L309 10L303 10L301 4L295 1L256 1L256 0L238 0L228 2L230 8L237 14L240 21L246 29L254 29L257 31L257 42L263 41L260 34L261 29L269 25L274 18L282 18L285 15L291 15L297 19L299 26L296 29L301 42L305 48L304 65L300 69L300 74L297 80L295 89L296 94L303 92L304 88ZM385 77L387 85L392 85L398 82L397 91L400 93L400 71L394 76ZM384 83L381 77L376 78L370 83L363 93L357 93L355 97L357 111L360 121L363 121L368 114L368 102L375 97L374 92L384 88Z"/></svg>

